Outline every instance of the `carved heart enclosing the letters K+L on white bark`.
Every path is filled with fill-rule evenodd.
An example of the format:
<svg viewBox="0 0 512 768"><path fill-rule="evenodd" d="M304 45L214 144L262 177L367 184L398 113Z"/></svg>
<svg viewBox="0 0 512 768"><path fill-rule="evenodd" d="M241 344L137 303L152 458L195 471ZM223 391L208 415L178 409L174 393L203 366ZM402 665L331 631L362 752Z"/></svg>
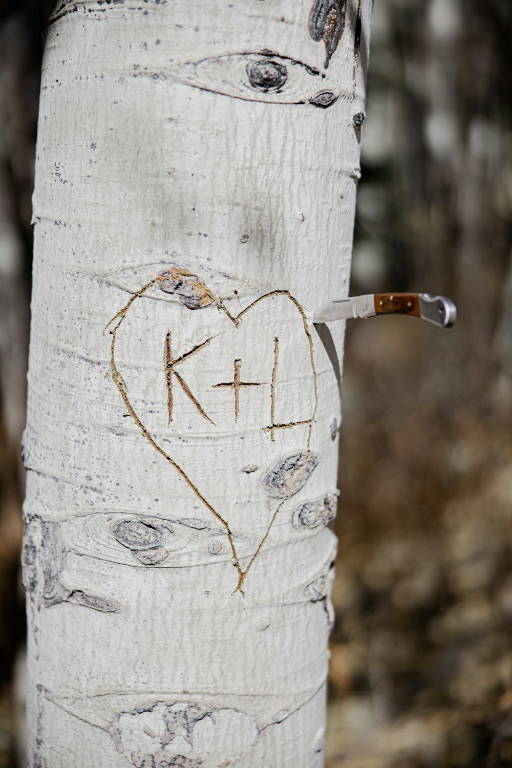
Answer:
<svg viewBox="0 0 512 768"><path fill-rule="evenodd" d="M143 297L158 298L155 291L180 302L180 314L187 321L183 326L167 326L167 302L141 301ZM136 303L137 323L130 327L131 308ZM140 333L141 303L149 336ZM279 326L273 311L276 303L280 305ZM198 276L170 267L137 290L109 326L112 323L111 375L127 412L151 448L189 486L199 508L206 508L210 518L215 518L236 565L236 591L243 592L246 574L279 509L305 485L318 462L310 445L318 395L306 313L288 291L276 290L233 314ZM162 354L163 370L159 365ZM122 366L121 359L125 361ZM220 370L225 372L222 376ZM296 434L302 435L300 449L290 443L290 436L295 443ZM200 471L197 460L194 462L198 445L205 459ZM256 475L262 466L263 472ZM236 472L240 472L239 482L233 477ZM236 520L249 477L253 483L259 480L257 491L252 485L251 498L256 493L258 501L261 496L267 510L266 520L259 515L261 521L251 521L251 535ZM202 520L197 519L195 527L201 528ZM139 561L158 564L165 559L161 545L167 534L157 531L154 523L147 524L148 531L140 525L144 522L124 525L117 521L114 538L132 552L140 538L144 552L142 556L135 553ZM239 554L237 543L253 538L254 530L262 525L252 556L246 546ZM158 550L155 554L153 544ZM242 557L249 559L245 567Z"/></svg>

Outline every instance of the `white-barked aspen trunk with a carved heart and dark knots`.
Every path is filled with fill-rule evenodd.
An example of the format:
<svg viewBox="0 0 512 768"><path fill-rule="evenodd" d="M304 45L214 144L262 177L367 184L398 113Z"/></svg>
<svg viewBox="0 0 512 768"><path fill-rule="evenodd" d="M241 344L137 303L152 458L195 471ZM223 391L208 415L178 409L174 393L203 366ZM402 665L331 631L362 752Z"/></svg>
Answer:
<svg viewBox="0 0 512 768"><path fill-rule="evenodd" d="M45 20L28 765L321 766L371 0Z"/></svg>

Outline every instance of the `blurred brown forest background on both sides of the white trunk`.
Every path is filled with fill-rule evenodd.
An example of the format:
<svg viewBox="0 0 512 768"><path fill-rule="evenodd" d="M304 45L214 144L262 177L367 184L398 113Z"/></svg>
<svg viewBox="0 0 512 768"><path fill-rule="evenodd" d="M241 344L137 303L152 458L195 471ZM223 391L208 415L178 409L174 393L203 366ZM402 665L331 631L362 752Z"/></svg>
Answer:
<svg viewBox="0 0 512 768"><path fill-rule="evenodd" d="M21 768L19 578L41 38L0 0L0 768ZM512 3L377 0L348 323L326 768L512 766ZM21 743L21 746L20 746Z"/></svg>

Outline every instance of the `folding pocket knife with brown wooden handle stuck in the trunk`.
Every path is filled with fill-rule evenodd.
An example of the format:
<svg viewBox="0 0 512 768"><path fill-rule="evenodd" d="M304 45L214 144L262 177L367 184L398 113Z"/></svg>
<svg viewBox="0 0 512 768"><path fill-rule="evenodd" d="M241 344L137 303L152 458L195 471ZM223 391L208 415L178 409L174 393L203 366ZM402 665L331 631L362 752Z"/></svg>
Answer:
<svg viewBox="0 0 512 768"><path fill-rule="evenodd" d="M457 307L446 296L429 293L368 293L328 301L315 310L313 323L378 315L409 315L441 328L451 328L457 319Z"/></svg>

